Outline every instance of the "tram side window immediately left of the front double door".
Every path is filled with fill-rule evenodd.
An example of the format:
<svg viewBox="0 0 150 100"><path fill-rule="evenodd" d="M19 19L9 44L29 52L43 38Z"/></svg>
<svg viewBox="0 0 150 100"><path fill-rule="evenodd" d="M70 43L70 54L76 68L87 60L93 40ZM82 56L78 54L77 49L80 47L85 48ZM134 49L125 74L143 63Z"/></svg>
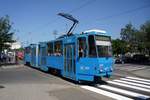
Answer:
<svg viewBox="0 0 150 100"><path fill-rule="evenodd" d="M62 56L62 41L56 41L54 43L54 55L55 56Z"/></svg>

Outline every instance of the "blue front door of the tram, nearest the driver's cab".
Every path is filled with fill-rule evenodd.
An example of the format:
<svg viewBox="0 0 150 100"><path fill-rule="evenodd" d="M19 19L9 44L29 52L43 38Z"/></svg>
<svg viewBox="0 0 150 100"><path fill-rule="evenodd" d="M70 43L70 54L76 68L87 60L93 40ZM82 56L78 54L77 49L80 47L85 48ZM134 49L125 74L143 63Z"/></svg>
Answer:
<svg viewBox="0 0 150 100"><path fill-rule="evenodd" d="M75 79L75 45L67 44L64 46L64 76Z"/></svg>

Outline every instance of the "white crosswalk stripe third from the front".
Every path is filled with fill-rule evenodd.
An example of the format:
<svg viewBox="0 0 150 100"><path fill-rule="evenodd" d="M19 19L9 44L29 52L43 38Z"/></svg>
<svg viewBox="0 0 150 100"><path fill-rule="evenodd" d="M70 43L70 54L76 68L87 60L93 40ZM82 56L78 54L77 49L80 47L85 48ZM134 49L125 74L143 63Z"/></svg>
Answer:
<svg viewBox="0 0 150 100"><path fill-rule="evenodd" d="M137 87L137 86L118 83L118 82L115 82L115 81L107 81L107 82L111 83L111 84L119 85L119 86L124 86L124 87L132 88L132 89L137 89L137 90L141 90L141 91L145 91L145 92L150 92L150 89L145 89L145 88L141 88L141 87Z"/></svg>

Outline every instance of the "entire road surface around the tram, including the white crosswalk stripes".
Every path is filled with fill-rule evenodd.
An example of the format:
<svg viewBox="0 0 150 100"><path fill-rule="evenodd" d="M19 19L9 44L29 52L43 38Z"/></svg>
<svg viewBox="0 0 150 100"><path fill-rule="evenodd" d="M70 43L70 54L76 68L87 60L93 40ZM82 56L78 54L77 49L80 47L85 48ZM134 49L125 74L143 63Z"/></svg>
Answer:
<svg viewBox="0 0 150 100"><path fill-rule="evenodd" d="M148 99L149 71L149 66L115 65L114 76L103 79L106 84L89 86L78 85L24 65L3 66L0 68L0 100ZM138 79L132 79L135 77ZM129 85L118 84L117 81Z"/></svg>

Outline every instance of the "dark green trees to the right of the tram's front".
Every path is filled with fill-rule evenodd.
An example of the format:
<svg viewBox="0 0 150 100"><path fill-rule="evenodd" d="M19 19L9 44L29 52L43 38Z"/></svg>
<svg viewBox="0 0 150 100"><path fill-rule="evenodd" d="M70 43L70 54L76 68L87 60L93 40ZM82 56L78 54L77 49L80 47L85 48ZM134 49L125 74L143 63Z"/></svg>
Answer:
<svg viewBox="0 0 150 100"><path fill-rule="evenodd" d="M136 29L131 23L121 29L120 39L112 41L114 54L142 53L150 54L150 20Z"/></svg>

